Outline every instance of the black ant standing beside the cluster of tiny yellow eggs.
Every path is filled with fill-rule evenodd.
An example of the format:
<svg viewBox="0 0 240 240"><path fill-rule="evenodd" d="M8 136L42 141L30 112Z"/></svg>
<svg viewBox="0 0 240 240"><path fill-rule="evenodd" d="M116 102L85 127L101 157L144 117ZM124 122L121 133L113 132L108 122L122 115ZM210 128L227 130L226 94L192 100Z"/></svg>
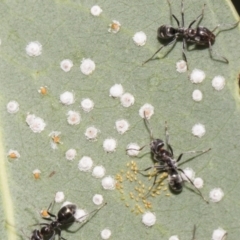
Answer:
<svg viewBox="0 0 240 240"><path fill-rule="evenodd" d="M149 122L147 120L146 114L144 112L144 122L145 125L150 132L150 137L151 137L151 142L150 142L150 148L151 148L151 153L153 156L153 160L156 163L154 166L149 167L144 169L143 171L148 171L152 168L156 169L156 174L154 176L154 182L152 187L150 188L149 192L152 190L154 185L156 184L156 179L157 176L160 173L166 172L168 174L168 183L173 192L180 193L183 188L183 178L179 172L181 172L186 179L194 186L194 188L198 191L202 199L208 203L208 201L203 197L201 191L195 187L194 183L192 180L184 173L184 171L178 167L178 162L182 159L183 154L203 154L211 150L211 148L207 150L202 150L202 151L189 151L189 152L184 152L181 153L177 159L174 158L173 154L173 149L171 145L169 144L169 134L167 130L167 122L165 122L165 137L166 137L166 147L167 149L164 148L164 142L161 139L155 139L153 138L152 130L149 127ZM145 146L141 147L138 151L142 150ZM128 149L130 150L130 149ZM136 150L136 149L135 149ZM195 156L196 157L196 156ZM194 158L195 158L194 157ZM141 171L140 171L141 172ZM144 174L143 174L144 175ZM144 175L146 176L146 175Z"/></svg>

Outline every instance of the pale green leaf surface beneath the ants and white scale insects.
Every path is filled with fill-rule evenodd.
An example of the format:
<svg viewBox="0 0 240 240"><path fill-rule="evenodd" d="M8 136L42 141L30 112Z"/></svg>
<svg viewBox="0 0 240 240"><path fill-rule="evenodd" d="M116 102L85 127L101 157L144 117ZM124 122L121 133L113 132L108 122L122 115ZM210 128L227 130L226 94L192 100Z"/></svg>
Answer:
<svg viewBox="0 0 240 240"><path fill-rule="evenodd" d="M179 1L172 1L172 13L179 19ZM204 18L200 25L214 29L217 24L233 24L238 16L230 0L185 0L185 23L188 25L200 13L206 3ZM187 73L178 73L176 62L182 58L182 42L174 47L164 48L144 66L159 47L156 30L162 24L171 23L167 1L111 0L97 1L103 9L99 17L90 14L96 1L56 0L56 1L1 1L1 132L0 132L0 186L2 239L26 239L31 236L34 224L43 222L38 211L47 208L57 191L63 191L66 200L91 211L96 208L92 202L94 194L102 194L107 205L93 216L87 224L74 223L63 230L66 239L101 239L104 228L112 231L112 239L169 239L178 235L180 239L191 239L193 225L197 226L196 239L210 239L214 229L222 227L228 232L228 239L239 238L239 27L217 34L213 49L225 56L229 64L214 61L207 48L187 51L190 70L202 69L206 79L199 85L192 84ZM121 23L117 34L108 32L112 20ZM222 26L221 29L227 27ZM137 47L132 37L138 31L147 35L147 43ZM25 48L31 41L43 45L42 55L30 57ZM167 54L168 53L168 54ZM167 55L165 55L167 54ZM96 63L95 71L85 76L80 71L83 58ZM64 72L60 68L63 59L71 59L73 68ZM226 79L223 90L216 91L211 81L214 76ZM119 99L109 97L109 89L115 83L122 84L125 91L133 94L135 103L124 108ZM47 86L48 94L41 95L38 89ZM192 100L192 92L199 89L203 93L201 102ZM64 106L59 97L65 91L73 91L75 103ZM89 113L80 107L83 98L90 98L95 106ZM9 114L6 105L15 100L20 105L19 112ZM131 212L142 202L130 198L137 181L125 179L123 192L102 189L101 179L95 179L90 172L78 170L82 156L90 156L95 165L106 168L106 176L115 176L122 170L128 171L126 164L136 161L139 169L151 166L148 153L150 136L139 116L139 109L145 103L154 106L150 119L154 137L164 139L164 125L168 122L170 143L178 156L190 150L212 148L181 167L191 167L196 175L203 178L201 190L208 198L213 188L220 187L224 198L219 203L206 204L186 184L181 194L166 196L169 190L161 191L156 197L149 197L150 211L155 212L157 222L153 227L145 227L142 214ZM67 112L78 111L81 123L71 126L67 123ZM28 113L41 117L46 128L41 133L33 133L26 124ZM120 135L115 121L126 119L130 129ZM206 134L202 138L192 135L196 123L204 124ZM84 135L89 126L101 132L97 141L88 141ZM58 149L50 146L51 131L61 132ZM102 144L106 138L117 140L114 153L106 153ZM147 145L140 157L126 155L126 146L137 142ZM77 157L67 161L65 152L75 148ZM12 160L7 157L10 149L18 150L21 157ZM188 156L184 156L184 160ZM34 179L32 171L41 170L40 179ZM51 177L51 172L55 174ZM147 187L152 181L136 175ZM167 180L164 181L167 187ZM136 191L134 192L134 194ZM121 200L124 195L124 200ZM126 207L129 204L129 207ZM55 204L52 212L57 214L61 204ZM144 209L144 208L143 208ZM144 210L145 211L145 210ZM146 210L147 211L147 210ZM24 233L23 233L24 232Z"/></svg>

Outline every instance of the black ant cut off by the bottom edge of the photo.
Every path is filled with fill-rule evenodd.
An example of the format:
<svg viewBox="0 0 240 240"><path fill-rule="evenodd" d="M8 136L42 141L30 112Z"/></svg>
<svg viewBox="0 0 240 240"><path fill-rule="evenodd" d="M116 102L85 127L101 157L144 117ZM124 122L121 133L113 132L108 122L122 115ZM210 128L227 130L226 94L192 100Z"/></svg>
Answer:
<svg viewBox="0 0 240 240"><path fill-rule="evenodd" d="M106 204L107 203L103 204L98 209L95 209L94 211L82 216L81 218L86 217L87 215L89 215L93 212L99 211ZM41 227L40 230L39 229L33 230L32 236L31 236L31 238L29 238L30 240L44 240L44 239L53 240L55 238L55 235L58 235L59 239L66 240L65 238L63 238L61 236L62 227L72 224L76 220L79 220L79 219L74 218L74 214L76 213L76 210L77 210L77 206L75 204L67 204L67 205L63 206L58 211L57 216L49 212L51 206L52 206L52 203L50 204L50 206L47 209L47 213L50 217L49 218L43 217L43 219L45 219L45 220L50 220L51 223L49 223L49 224L48 223L40 223L39 225L41 225L43 227ZM54 220L52 218L54 218Z"/></svg>

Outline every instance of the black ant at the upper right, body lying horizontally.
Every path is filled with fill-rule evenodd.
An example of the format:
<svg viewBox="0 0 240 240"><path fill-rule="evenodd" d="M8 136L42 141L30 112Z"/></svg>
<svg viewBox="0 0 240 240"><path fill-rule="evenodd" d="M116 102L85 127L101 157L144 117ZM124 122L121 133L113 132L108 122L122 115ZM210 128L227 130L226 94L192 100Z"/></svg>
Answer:
<svg viewBox="0 0 240 240"><path fill-rule="evenodd" d="M171 8L171 4L168 0L168 4ZM152 57L150 57L149 59L147 59L143 64L147 63L148 61L152 60L154 58L154 56L160 52L164 47L167 47L169 45L175 44L176 41L179 38L182 38L183 41L183 46L182 46L182 54L183 54L183 58L185 60L185 62L187 63L187 57L185 54L185 50L186 50L186 46L187 43L195 43L196 45L202 45L202 46L207 46L209 48L209 52L210 52L210 57L212 59L213 58L213 50L212 50L212 45L215 41L216 36L214 35L214 31L216 31L221 24L218 24L212 31L210 31L208 28L206 27L201 27L201 26L197 26L195 29L192 28L192 25L198 21L201 20L203 18L203 14L204 14L204 8L205 8L205 4L203 6L202 9L202 13L195 19L193 20L189 26L186 28L184 26L184 8L183 8L183 0L181 1L181 15L182 15L182 24L180 25L179 20L177 19L177 17L174 14L171 14L172 17L175 19L175 21L177 22L178 27L172 27L171 25L162 25L158 28L157 30L157 36L159 39L168 39L170 40L169 43L167 43L166 45L162 45L153 55ZM238 25L239 21L237 21L237 23L235 24L231 24L230 28L234 28ZM218 57L220 57L222 60L218 60L218 61L223 61L225 63L229 63L229 61L227 60L227 58L218 55L217 53L215 53L215 55L217 55ZM187 69L188 69L188 64L187 64Z"/></svg>

